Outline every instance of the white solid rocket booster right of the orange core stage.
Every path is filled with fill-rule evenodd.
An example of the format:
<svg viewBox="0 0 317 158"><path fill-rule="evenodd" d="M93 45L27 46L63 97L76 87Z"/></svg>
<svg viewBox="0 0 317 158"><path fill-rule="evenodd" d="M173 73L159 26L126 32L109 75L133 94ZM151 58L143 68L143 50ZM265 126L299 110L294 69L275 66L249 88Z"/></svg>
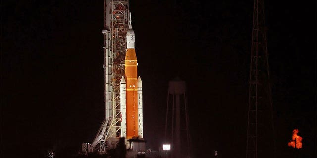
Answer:
<svg viewBox="0 0 317 158"><path fill-rule="evenodd" d="M142 103L142 80L138 78L138 135L143 138L143 103Z"/></svg>

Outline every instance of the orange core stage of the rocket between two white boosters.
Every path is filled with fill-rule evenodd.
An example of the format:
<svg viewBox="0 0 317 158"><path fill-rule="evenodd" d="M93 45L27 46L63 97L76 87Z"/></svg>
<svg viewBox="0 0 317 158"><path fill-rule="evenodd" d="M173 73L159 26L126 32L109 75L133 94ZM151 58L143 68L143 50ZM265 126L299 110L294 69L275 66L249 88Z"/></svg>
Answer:
<svg viewBox="0 0 317 158"><path fill-rule="evenodd" d="M134 48L128 48L124 60L126 79L127 139L138 136L138 68Z"/></svg>

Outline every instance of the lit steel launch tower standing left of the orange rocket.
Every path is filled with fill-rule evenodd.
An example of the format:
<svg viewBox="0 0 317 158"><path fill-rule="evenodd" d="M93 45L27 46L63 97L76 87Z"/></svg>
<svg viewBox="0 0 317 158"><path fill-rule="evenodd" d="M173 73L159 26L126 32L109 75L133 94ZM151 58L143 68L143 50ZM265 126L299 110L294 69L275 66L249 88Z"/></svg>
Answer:
<svg viewBox="0 0 317 158"><path fill-rule="evenodd" d="M120 80L124 76L128 15L128 0L104 0L105 118L92 143L99 153L115 148L120 137Z"/></svg>

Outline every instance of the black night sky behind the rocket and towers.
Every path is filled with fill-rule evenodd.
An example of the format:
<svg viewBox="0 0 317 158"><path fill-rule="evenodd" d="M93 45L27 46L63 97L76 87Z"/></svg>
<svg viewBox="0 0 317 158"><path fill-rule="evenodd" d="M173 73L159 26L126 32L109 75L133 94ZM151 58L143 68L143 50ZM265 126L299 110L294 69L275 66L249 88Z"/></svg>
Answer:
<svg viewBox="0 0 317 158"><path fill-rule="evenodd" d="M1 156L76 153L104 118L103 0L0 3ZM278 153L298 128L303 155L316 158L316 1L264 3ZM179 76L194 158L243 158L253 1L131 0L130 11L147 146L161 146Z"/></svg>

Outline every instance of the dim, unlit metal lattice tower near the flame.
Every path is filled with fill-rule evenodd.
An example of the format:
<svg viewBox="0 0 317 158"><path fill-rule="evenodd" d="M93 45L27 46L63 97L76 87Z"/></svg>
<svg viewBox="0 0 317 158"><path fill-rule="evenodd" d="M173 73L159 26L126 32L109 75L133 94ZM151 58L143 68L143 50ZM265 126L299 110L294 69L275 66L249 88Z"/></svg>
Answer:
<svg viewBox="0 0 317 158"><path fill-rule="evenodd" d="M274 158L275 141L263 0L254 0L246 158Z"/></svg>

